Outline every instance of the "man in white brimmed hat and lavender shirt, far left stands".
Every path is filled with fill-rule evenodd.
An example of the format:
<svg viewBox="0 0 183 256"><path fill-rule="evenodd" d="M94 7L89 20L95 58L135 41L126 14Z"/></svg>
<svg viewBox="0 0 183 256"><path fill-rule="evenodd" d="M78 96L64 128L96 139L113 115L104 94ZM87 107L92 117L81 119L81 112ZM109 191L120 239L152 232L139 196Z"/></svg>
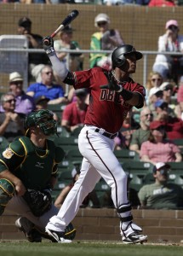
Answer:
<svg viewBox="0 0 183 256"><path fill-rule="evenodd" d="M16 113L30 113L35 109L34 100L31 96L26 95L23 90L23 78L20 73L13 72L9 74L9 91L15 96L15 109ZM0 111L4 112L3 107L0 107Z"/></svg>

